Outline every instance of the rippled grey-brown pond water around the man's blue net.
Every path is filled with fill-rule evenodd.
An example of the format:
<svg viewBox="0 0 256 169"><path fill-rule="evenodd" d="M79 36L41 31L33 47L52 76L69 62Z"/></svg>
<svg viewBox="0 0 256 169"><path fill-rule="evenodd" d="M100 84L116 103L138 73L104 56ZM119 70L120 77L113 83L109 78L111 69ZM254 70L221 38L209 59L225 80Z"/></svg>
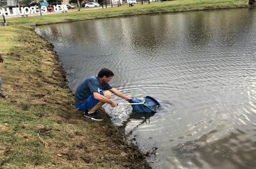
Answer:
<svg viewBox="0 0 256 169"><path fill-rule="evenodd" d="M155 115L105 106L152 168L256 165L255 9L78 21L36 32L55 45L73 91L106 67L112 86L160 102Z"/></svg>

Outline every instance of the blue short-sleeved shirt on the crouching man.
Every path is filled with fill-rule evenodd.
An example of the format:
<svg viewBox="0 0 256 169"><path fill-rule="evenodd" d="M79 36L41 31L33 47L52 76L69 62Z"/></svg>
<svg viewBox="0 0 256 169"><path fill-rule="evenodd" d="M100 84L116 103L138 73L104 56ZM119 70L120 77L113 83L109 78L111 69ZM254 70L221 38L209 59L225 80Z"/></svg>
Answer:
<svg viewBox="0 0 256 169"><path fill-rule="evenodd" d="M82 104L93 92L99 93L104 90L111 90L112 88L109 84L100 84L99 77L88 77L76 89L76 105Z"/></svg>

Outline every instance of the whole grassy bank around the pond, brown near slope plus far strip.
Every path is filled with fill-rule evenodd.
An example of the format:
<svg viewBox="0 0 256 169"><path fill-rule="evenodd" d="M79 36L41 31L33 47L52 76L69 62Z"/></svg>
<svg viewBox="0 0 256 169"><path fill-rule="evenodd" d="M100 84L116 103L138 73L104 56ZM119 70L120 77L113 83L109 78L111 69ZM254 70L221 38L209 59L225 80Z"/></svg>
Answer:
<svg viewBox="0 0 256 169"><path fill-rule="evenodd" d="M66 14L7 18L0 27L0 168L148 168L140 151L127 145L104 115L103 122L83 119L52 45L31 25L168 11L247 6L247 1L177 0L82 9Z"/></svg>

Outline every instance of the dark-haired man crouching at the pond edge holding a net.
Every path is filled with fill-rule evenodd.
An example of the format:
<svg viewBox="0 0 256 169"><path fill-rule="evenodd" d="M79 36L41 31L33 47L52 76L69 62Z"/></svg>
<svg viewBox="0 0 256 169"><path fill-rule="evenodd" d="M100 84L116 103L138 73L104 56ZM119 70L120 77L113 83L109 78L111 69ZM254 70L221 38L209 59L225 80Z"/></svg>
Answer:
<svg viewBox="0 0 256 169"><path fill-rule="evenodd" d="M129 102L131 97L124 95L124 93L111 87L109 82L114 73L109 69L101 69L98 76L86 78L76 89L75 101L77 110L83 111L84 117L91 118L91 120L101 121L96 110L98 110L104 103L109 103L111 107L116 107L117 104L111 100L111 92L114 95L124 98Z"/></svg>

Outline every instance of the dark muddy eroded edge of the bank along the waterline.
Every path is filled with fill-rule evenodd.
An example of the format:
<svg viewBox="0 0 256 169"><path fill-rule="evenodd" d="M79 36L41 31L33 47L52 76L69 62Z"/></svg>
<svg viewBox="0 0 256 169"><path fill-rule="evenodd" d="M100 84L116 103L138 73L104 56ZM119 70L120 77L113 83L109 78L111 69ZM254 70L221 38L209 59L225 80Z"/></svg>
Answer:
<svg viewBox="0 0 256 169"><path fill-rule="evenodd" d="M43 37L41 37L40 35L37 35L37 36L43 39ZM68 88L68 90L70 90L70 88L68 87L68 81L66 79L66 72L62 66L62 63L59 60L58 54L53 49L54 45L49 43L47 48L50 51L52 51L52 53L54 53L55 61L58 62L58 65L56 65L56 67L58 72L60 72L61 74L60 77L63 77L63 79L60 79L62 81L63 87ZM72 92L72 90L70 90L70 92ZM69 110L70 108L71 109L74 108L74 107L70 107L70 105L74 105L73 99L70 100L70 102L71 104L68 104L65 106L66 110ZM133 143L127 143L126 141L124 141L124 135L123 135L124 127L114 127L109 115L105 112L104 108L101 108L101 110L98 110L98 112L104 118L102 123L104 123L103 125L107 129L103 134L111 138L111 140L109 141L114 142L117 148L116 150L120 150L120 153L124 152L127 154L128 162L124 162L123 164L122 161L119 161L118 164L122 166L122 168L150 168L150 165L145 160L145 154L143 154L139 150L137 145L134 145ZM77 113L79 117L81 117L82 119L84 118L82 112L77 111ZM68 112L65 114L61 114L60 116L64 117L66 120L72 120L73 118L73 116L70 115ZM92 120L87 120L87 119L83 119L83 120L85 122L93 122Z"/></svg>

